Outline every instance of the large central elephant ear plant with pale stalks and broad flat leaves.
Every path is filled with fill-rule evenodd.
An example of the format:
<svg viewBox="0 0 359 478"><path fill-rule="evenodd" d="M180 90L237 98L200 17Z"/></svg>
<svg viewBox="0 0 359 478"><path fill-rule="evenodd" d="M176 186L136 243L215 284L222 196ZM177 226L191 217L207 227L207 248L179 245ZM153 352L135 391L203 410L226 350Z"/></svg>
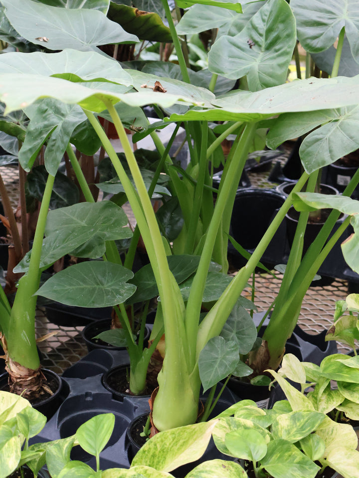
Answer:
<svg viewBox="0 0 359 478"><path fill-rule="evenodd" d="M11 11L10 5L7 4L7 8ZM238 7L236 6L236 8ZM285 18L291 19L290 24L292 30L291 33L288 34L288 42L292 41L294 44L294 21L292 13L288 10L287 3L281 1L278 6L276 2L268 2L266 3L266 8L269 10L265 9L261 11L258 15L259 18L263 19L263 16L268 16L267 14L270 8L274 8L275 11L279 8L279 13L283 14ZM258 17L256 17L256 19L258 19ZM274 31L274 25L278 30L276 23L276 21L279 21L278 16L273 15L271 18L273 18L274 22L271 27L272 30ZM263 22L262 25L264 25ZM243 35L247 36L246 30L243 32ZM278 33L278 35L281 36L280 33ZM51 46L50 40L51 38L48 38L48 47ZM244 40L246 43L247 38L244 38ZM250 48L247 43L246 45L249 50L254 48ZM58 48L58 46L55 46L53 43L52 47ZM265 49L265 44L263 48ZM36 53L34 55L36 55ZM179 51L178 55L180 57ZM260 56L259 51L256 52L256 55ZM287 69L290 56L287 57L286 61L282 60L283 65L287 62L285 69ZM69 65L67 59L74 59L75 57L78 59L77 62L71 62L70 68L66 66ZM86 62L90 57L92 69L97 69L97 61L104 66L101 70L100 77L97 71L93 72L91 70L89 72L88 69L86 70L85 66L88 64ZM35 61L35 56L31 56L31 54L25 54L25 56L23 56L23 54L20 53L3 55L3 61L1 61L3 65L3 67L1 66L3 73L1 74L1 100L6 104L7 111L24 108L25 105L32 104L36 99L40 99L43 96L49 96L55 100L59 100L59 104L61 105L63 103L60 102L65 102L65 104L74 105L74 108L82 108L84 114L101 139L134 211L139 230L149 254L161 298L163 323L166 334L166 355L164 367L159 375L159 392L154 401L154 423L158 429L164 430L194 422L197 417L198 396L201 384L199 374L200 355L205 349L212 353L211 350L213 349L217 349L218 351L218 349L223 350L226 348L224 339L218 338L218 335L229 315L235 309L243 288L247 285L250 275L254 271L269 240L283 219L292 200L292 196L289 196L273 223L269 226L258 248L249 259L247 266L236 275L206 317L199 323L203 290L214 245L218 237L224 234L226 230L225 227L222 229L223 222L226 222L223 220L223 214L224 211L228 211L228 205L231 204L231 200L234 198L235 189L238 184L238 176L240 177L241 170L247 158L248 145L256 130L256 122L259 119L266 119L275 114L280 114L288 110L292 111L293 109L297 111L311 111L352 105L357 101L356 86L358 80L355 78L331 80L311 79L310 81L304 80L303 82L294 82L292 84L279 86L272 86L272 83L268 85L265 84L263 85L264 89L260 89L260 84L254 81L252 89L256 91L242 90L230 93L227 97L215 99L214 95L208 90L196 88L188 83L163 77L160 77L160 83L163 90L166 91L153 91L148 87L145 88L144 85L155 86L154 79L158 77L132 70L124 71L120 69L119 65L113 62L113 60L111 60L111 64L105 64L106 59L103 56L100 57L91 52L81 53L66 50L60 53L52 53L51 55L43 55L41 59L45 60L44 69L38 70L38 73L40 73L39 76L33 76L31 65L32 62ZM18 69L14 72L15 70L10 64L11 61L15 61L15 63L21 61L23 63L22 73L18 73ZM48 67L48 65L51 66ZM56 73L61 69L65 73ZM185 71L183 68L183 77L185 77ZM51 75L59 75L61 77L54 78L51 77ZM248 75L250 75L250 69L249 71L247 70L247 76ZM285 81L285 77L286 75L282 72L279 82ZM95 80L95 82L90 85L86 84L86 82L79 84L69 81L77 80L78 78L85 79L86 81ZM106 80L106 83L103 82L99 84L99 80ZM19 85L23 84L27 85L26 88L19 87ZM275 81L274 84L278 84L278 81ZM131 85L135 87L136 91L127 93ZM88 86L92 88L88 88ZM324 86L326 89L333 91L333 95L328 97L328 94L323 90ZM350 92L350 95L348 92ZM293 95L295 93L298 93L300 96L293 102ZM313 100L313 98L315 98L315 100ZM227 162L225 172L222 176L213 214L208 221L206 233L200 243L200 262L193 279L188 300L186 301L182 299L179 286L169 269L167 260L169 249L164 245L146 185L137 167L137 162L132 153L120 116L113 106L113 104L118 101L121 102L121 105L129 105L132 108L153 103L164 108L169 108L174 104L185 106L187 111L185 113L174 113L171 116L171 121L190 120L203 122L198 123L200 126L199 137L203 140L199 147L200 163L203 162L202 159L206 158L207 155L207 126L205 123L207 120L217 121L225 119L227 121L243 122L240 134L233 146L232 160ZM111 143L105 136L100 124L92 114L92 112L100 113L105 108L111 115L123 144L135 187L125 173L121 162L115 154ZM156 138L155 141L157 141ZM68 144L67 142L68 138L65 145ZM162 149L163 153L165 153L163 146L161 147L161 145L159 145L158 148ZM67 148L67 151L69 156L71 156L71 149ZM56 170L57 159L52 164L50 159L49 161L47 168L51 171ZM294 191L300 190L307 178L308 174L304 173ZM200 198L203 197L202 191L203 178L198 179L196 184L196 193L199 194L198 197ZM229 215L228 211L228 217ZM73 273L75 273L75 269ZM252 325L250 325L250 322L248 322L248 325L247 322L244 323L246 323L246 327L252 327L251 330L253 330L253 323ZM234 336L232 335L231 339L233 338ZM255 333L252 337L252 343L254 339ZM226 350L230 350L231 353L233 352L233 357L235 356L235 359L233 358L233 360L230 361L231 365L234 365L234 368L239 363L238 345L239 342L232 340L231 347L227 347ZM252 344L247 343L246 347L251 347L251 345ZM216 356L218 357L218 353ZM216 358L216 360L216 363L218 363L218 358ZM224 362L224 360L221 361L221 363ZM230 370L225 370L225 373L229 372ZM221 374L223 373L224 371L221 370ZM221 374L215 377L210 376L210 379L204 381L205 385L207 387L211 386L218 380ZM179 409L182 411L181 414L177 413Z"/></svg>

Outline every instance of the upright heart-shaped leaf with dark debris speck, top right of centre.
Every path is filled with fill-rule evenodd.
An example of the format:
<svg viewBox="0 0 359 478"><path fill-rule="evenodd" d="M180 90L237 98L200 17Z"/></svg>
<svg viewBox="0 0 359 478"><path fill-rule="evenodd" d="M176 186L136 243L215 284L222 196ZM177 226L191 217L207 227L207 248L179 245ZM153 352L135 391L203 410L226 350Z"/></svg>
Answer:
<svg viewBox="0 0 359 478"><path fill-rule="evenodd" d="M215 41L208 68L226 78L247 76L250 91L280 85L286 81L295 42L295 18L288 3L269 0L240 33Z"/></svg>

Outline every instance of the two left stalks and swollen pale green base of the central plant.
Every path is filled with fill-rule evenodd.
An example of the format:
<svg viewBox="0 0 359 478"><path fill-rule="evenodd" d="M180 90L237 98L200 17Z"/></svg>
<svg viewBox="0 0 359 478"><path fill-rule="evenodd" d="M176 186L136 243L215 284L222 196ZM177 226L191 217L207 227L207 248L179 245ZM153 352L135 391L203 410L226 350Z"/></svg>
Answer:
<svg viewBox="0 0 359 478"><path fill-rule="evenodd" d="M166 369L167 364L171 364L171 374L166 375L166 378L163 376L163 370L159 374L160 389L154 403L153 419L159 430L176 428L195 421L198 408L198 400L195 397L199 395L199 386L193 393L189 380L188 353L183 324L184 304L179 286L169 269L157 219L126 132L111 102L105 101L105 106L119 135L137 190L127 177L101 125L90 112L85 111L85 113L125 189L154 270L165 318L166 357L163 370ZM182 410L181 414L177 413L179 409Z"/></svg>

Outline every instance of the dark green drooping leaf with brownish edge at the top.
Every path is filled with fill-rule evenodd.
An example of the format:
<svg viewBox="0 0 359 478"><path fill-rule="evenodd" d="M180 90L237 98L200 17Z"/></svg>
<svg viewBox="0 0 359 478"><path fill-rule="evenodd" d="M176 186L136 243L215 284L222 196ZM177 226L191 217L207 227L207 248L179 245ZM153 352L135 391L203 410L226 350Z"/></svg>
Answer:
<svg viewBox="0 0 359 478"><path fill-rule="evenodd" d="M140 40L172 42L170 28L163 23L156 12L111 2L107 16L128 33L137 35Z"/></svg>

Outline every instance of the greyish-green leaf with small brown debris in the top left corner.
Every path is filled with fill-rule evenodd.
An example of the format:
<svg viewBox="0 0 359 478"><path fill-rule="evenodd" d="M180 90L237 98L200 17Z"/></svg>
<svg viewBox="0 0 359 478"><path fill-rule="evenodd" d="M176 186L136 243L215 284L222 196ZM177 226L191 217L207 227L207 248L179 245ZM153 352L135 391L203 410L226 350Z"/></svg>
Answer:
<svg viewBox="0 0 359 478"><path fill-rule="evenodd" d="M20 35L50 50L99 51L98 45L139 41L98 10L59 8L32 0L2 0L2 4Z"/></svg>

